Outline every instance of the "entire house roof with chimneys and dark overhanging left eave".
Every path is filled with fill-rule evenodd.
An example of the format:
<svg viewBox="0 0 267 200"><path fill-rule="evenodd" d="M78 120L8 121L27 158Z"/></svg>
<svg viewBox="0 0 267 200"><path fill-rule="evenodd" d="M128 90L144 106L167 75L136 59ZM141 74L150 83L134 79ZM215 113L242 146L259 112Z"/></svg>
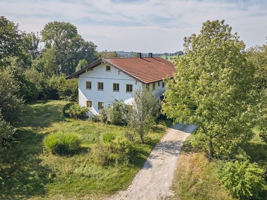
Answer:
<svg viewBox="0 0 267 200"><path fill-rule="evenodd" d="M79 77L79 75L103 62L144 84L161 81L166 77L172 78L173 73L176 72L172 62L162 57L152 57L151 53L149 57L142 57L142 54L139 53L138 57L101 58L68 76L66 79Z"/></svg>

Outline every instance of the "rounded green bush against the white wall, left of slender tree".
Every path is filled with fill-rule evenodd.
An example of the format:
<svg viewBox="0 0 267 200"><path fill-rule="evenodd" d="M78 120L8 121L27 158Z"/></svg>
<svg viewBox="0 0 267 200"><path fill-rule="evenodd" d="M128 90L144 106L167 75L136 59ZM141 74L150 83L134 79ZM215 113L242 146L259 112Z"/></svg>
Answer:
<svg viewBox="0 0 267 200"><path fill-rule="evenodd" d="M112 124L127 125L129 118L129 106L122 100L113 100L108 109L108 118Z"/></svg>

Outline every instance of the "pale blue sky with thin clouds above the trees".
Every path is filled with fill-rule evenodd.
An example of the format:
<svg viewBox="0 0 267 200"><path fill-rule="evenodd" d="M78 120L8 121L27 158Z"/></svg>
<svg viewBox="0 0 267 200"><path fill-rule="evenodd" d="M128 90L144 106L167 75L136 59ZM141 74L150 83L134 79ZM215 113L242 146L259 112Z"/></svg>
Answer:
<svg viewBox="0 0 267 200"><path fill-rule="evenodd" d="M26 32L70 22L98 51L173 53L207 20L225 20L247 48L266 43L267 0L0 0Z"/></svg>

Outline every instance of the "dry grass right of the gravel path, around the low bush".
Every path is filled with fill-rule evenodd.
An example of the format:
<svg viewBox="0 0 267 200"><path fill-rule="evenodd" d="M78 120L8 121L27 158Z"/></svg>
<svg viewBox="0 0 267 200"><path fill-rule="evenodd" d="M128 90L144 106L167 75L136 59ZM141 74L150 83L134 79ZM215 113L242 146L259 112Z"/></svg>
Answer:
<svg viewBox="0 0 267 200"><path fill-rule="evenodd" d="M235 200L222 188L217 175L223 161L216 159L208 161L204 151L192 147L192 137L189 136L184 142L182 153L178 158L172 186L175 196L171 199ZM251 163L256 162L266 168L267 144L260 140L257 130L254 138L242 147ZM262 197L266 199L267 191L262 194Z"/></svg>

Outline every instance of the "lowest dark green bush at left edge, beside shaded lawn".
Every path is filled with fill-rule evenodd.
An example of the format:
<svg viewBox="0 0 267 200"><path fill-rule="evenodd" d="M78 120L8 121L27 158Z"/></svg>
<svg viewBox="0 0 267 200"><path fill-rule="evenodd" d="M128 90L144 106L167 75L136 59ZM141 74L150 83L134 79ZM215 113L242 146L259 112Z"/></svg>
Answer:
<svg viewBox="0 0 267 200"><path fill-rule="evenodd" d="M15 129L6 122L0 113L0 152L10 147L14 138Z"/></svg>

